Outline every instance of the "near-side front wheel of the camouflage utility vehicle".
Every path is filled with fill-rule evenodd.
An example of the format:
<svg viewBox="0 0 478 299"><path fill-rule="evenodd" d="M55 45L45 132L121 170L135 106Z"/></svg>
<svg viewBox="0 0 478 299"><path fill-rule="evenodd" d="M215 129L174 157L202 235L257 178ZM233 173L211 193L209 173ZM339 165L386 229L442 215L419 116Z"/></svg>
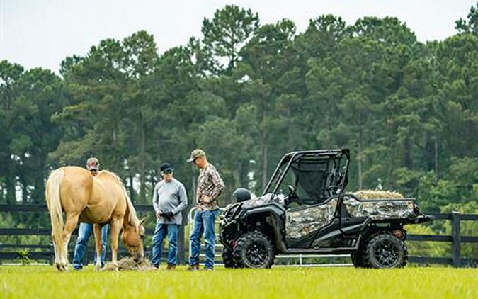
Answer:
<svg viewBox="0 0 478 299"><path fill-rule="evenodd" d="M233 254L237 266L256 269L271 268L275 257L271 241L261 232L240 237Z"/></svg>

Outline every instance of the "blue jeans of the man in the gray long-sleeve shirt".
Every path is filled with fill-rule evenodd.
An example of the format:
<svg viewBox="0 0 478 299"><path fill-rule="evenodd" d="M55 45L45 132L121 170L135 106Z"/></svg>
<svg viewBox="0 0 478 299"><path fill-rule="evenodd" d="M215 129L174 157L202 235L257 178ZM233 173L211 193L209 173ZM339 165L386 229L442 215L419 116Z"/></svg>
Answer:
<svg viewBox="0 0 478 299"><path fill-rule="evenodd" d="M157 223L153 235L153 248L151 262L153 266L159 266L163 251L163 240L168 235L168 264L176 265L178 262L178 228L179 225Z"/></svg>

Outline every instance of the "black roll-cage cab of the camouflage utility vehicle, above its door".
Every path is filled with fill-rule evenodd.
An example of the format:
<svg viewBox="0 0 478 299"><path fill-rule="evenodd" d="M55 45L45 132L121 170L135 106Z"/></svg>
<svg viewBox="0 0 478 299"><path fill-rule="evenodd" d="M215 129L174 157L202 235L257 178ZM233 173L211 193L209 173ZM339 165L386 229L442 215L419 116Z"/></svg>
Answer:
<svg viewBox="0 0 478 299"><path fill-rule="evenodd" d="M343 159L343 154L339 153L288 154L280 161L265 193L287 195L290 185L295 188L302 203L321 203L338 189L343 189L347 167L348 159Z"/></svg>

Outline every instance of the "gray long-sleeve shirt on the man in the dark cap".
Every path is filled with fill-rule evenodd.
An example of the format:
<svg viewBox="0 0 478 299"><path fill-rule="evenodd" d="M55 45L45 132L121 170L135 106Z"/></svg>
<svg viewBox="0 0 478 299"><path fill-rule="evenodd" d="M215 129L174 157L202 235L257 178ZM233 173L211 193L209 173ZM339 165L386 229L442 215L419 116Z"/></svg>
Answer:
<svg viewBox="0 0 478 299"><path fill-rule="evenodd" d="M186 196L186 188L183 183L177 179L172 179L170 182L160 181L154 186L153 192L153 208L154 213L161 211L166 213L173 212L173 218L167 220L163 216L159 216L157 222L165 224L181 225L183 221L181 210L188 205L188 196Z"/></svg>

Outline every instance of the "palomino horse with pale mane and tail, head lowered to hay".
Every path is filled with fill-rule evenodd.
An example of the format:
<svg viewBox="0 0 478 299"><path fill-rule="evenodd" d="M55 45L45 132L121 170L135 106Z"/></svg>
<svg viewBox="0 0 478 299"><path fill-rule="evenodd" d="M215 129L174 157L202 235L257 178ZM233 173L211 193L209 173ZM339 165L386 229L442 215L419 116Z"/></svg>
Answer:
<svg viewBox="0 0 478 299"><path fill-rule="evenodd" d="M144 259L144 227L127 196L120 178L110 171L92 176L81 167L61 167L50 174L45 189L52 222L55 266L67 271L68 242L78 222L93 223L96 241L96 269L101 263L101 226L111 225L111 261L117 264L118 236L136 261ZM64 223L62 211L66 214Z"/></svg>

